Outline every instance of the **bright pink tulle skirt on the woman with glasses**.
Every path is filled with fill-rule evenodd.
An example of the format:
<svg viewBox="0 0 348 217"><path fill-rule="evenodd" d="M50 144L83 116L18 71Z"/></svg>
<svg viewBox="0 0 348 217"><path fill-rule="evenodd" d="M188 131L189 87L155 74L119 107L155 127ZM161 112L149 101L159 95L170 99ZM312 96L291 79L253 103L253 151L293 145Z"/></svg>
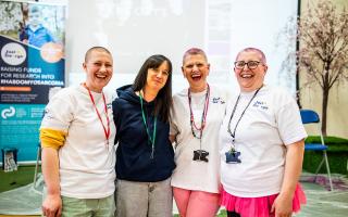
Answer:
<svg viewBox="0 0 348 217"><path fill-rule="evenodd" d="M239 197L222 191L221 205L225 206L229 212L236 212L241 217L272 217L271 208L274 200L278 194L261 197ZM306 195L298 183L293 199L293 212L297 213L301 209L301 204L306 204Z"/></svg>

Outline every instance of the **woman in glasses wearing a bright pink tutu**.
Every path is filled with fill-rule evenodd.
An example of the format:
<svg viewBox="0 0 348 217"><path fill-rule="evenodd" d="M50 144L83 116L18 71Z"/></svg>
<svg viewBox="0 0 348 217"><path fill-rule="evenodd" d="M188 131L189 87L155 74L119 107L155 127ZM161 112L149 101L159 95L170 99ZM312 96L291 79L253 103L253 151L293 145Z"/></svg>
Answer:
<svg viewBox="0 0 348 217"><path fill-rule="evenodd" d="M221 203L228 217L288 217L306 203L298 179L307 133L295 99L264 85L266 71L261 50L238 53L240 93L220 130Z"/></svg>

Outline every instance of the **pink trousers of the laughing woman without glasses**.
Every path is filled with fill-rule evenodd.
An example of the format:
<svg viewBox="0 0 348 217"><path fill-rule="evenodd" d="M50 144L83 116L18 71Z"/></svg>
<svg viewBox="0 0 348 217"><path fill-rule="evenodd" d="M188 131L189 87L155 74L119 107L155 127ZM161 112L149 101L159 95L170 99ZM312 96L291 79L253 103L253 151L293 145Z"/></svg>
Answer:
<svg viewBox="0 0 348 217"><path fill-rule="evenodd" d="M217 193L173 187L173 194L181 217L215 217L220 208Z"/></svg>

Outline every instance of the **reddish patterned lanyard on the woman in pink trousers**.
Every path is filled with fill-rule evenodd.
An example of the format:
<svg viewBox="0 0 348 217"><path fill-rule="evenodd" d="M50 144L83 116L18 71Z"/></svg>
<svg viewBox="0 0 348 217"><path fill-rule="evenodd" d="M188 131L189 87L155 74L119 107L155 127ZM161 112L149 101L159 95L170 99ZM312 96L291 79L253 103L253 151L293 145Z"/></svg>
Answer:
<svg viewBox="0 0 348 217"><path fill-rule="evenodd" d="M191 132L192 132L194 137L200 140L200 149L201 149L201 140L202 140L202 136L203 136L203 129L206 127L206 122L207 122L207 114L208 114L208 107L209 107L209 95L210 95L210 87L207 84L204 108L203 108L201 120L200 120L200 127L197 127L196 123L195 123L194 113L192 113L192 106L191 106L191 91L189 88L187 90L189 115L190 115L190 123L189 124L191 126ZM200 132L199 136L196 135L194 128Z"/></svg>

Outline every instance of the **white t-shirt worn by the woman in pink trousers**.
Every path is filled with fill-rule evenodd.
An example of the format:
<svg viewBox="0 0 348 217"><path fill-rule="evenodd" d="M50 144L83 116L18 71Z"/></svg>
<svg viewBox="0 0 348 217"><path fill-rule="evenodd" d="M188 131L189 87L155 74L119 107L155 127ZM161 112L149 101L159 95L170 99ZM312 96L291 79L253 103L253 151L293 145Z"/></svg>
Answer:
<svg viewBox="0 0 348 217"><path fill-rule="evenodd" d="M191 108L195 124L201 127L207 90L191 93ZM175 163L172 186L176 188L219 193L220 156L219 128L226 108L226 93L215 87L210 87L207 123L201 140L195 138L190 126L190 110L187 89L173 97L171 135L176 135ZM196 131L199 136L199 131ZM195 150L209 152L209 162L192 161Z"/></svg>

